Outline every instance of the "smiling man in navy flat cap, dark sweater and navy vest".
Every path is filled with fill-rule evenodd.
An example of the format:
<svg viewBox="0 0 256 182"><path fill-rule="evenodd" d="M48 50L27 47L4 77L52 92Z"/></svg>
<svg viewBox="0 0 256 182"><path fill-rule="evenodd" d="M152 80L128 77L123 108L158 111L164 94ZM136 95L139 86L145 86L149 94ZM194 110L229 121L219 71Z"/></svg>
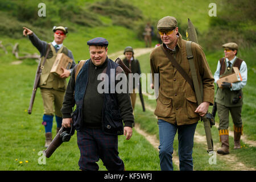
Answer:
<svg viewBox="0 0 256 182"><path fill-rule="evenodd" d="M94 38L87 42L90 59L80 61L68 82L63 107L63 126L77 130L77 144L80 149L79 166L81 170L97 171L99 159L108 170L123 171L125 166L118 156L118 135L126 135L129 140L134 122L133 108L129 96L128 83L123 69L107 56L108 41ZM101 77L105 73L106 77ZM123 74L127 89L117 93L111 90L110 82L115 76ZM108 88L100 92L102 79ZM109 82L110 81L110 82ZM104 85L105 86L105 85ZM75 95L73 96L73 93ZM75 100L75 103L73 103ZM72 107L76 110L71 117ZM124 126L123 126L124 123Z"/></svg>

